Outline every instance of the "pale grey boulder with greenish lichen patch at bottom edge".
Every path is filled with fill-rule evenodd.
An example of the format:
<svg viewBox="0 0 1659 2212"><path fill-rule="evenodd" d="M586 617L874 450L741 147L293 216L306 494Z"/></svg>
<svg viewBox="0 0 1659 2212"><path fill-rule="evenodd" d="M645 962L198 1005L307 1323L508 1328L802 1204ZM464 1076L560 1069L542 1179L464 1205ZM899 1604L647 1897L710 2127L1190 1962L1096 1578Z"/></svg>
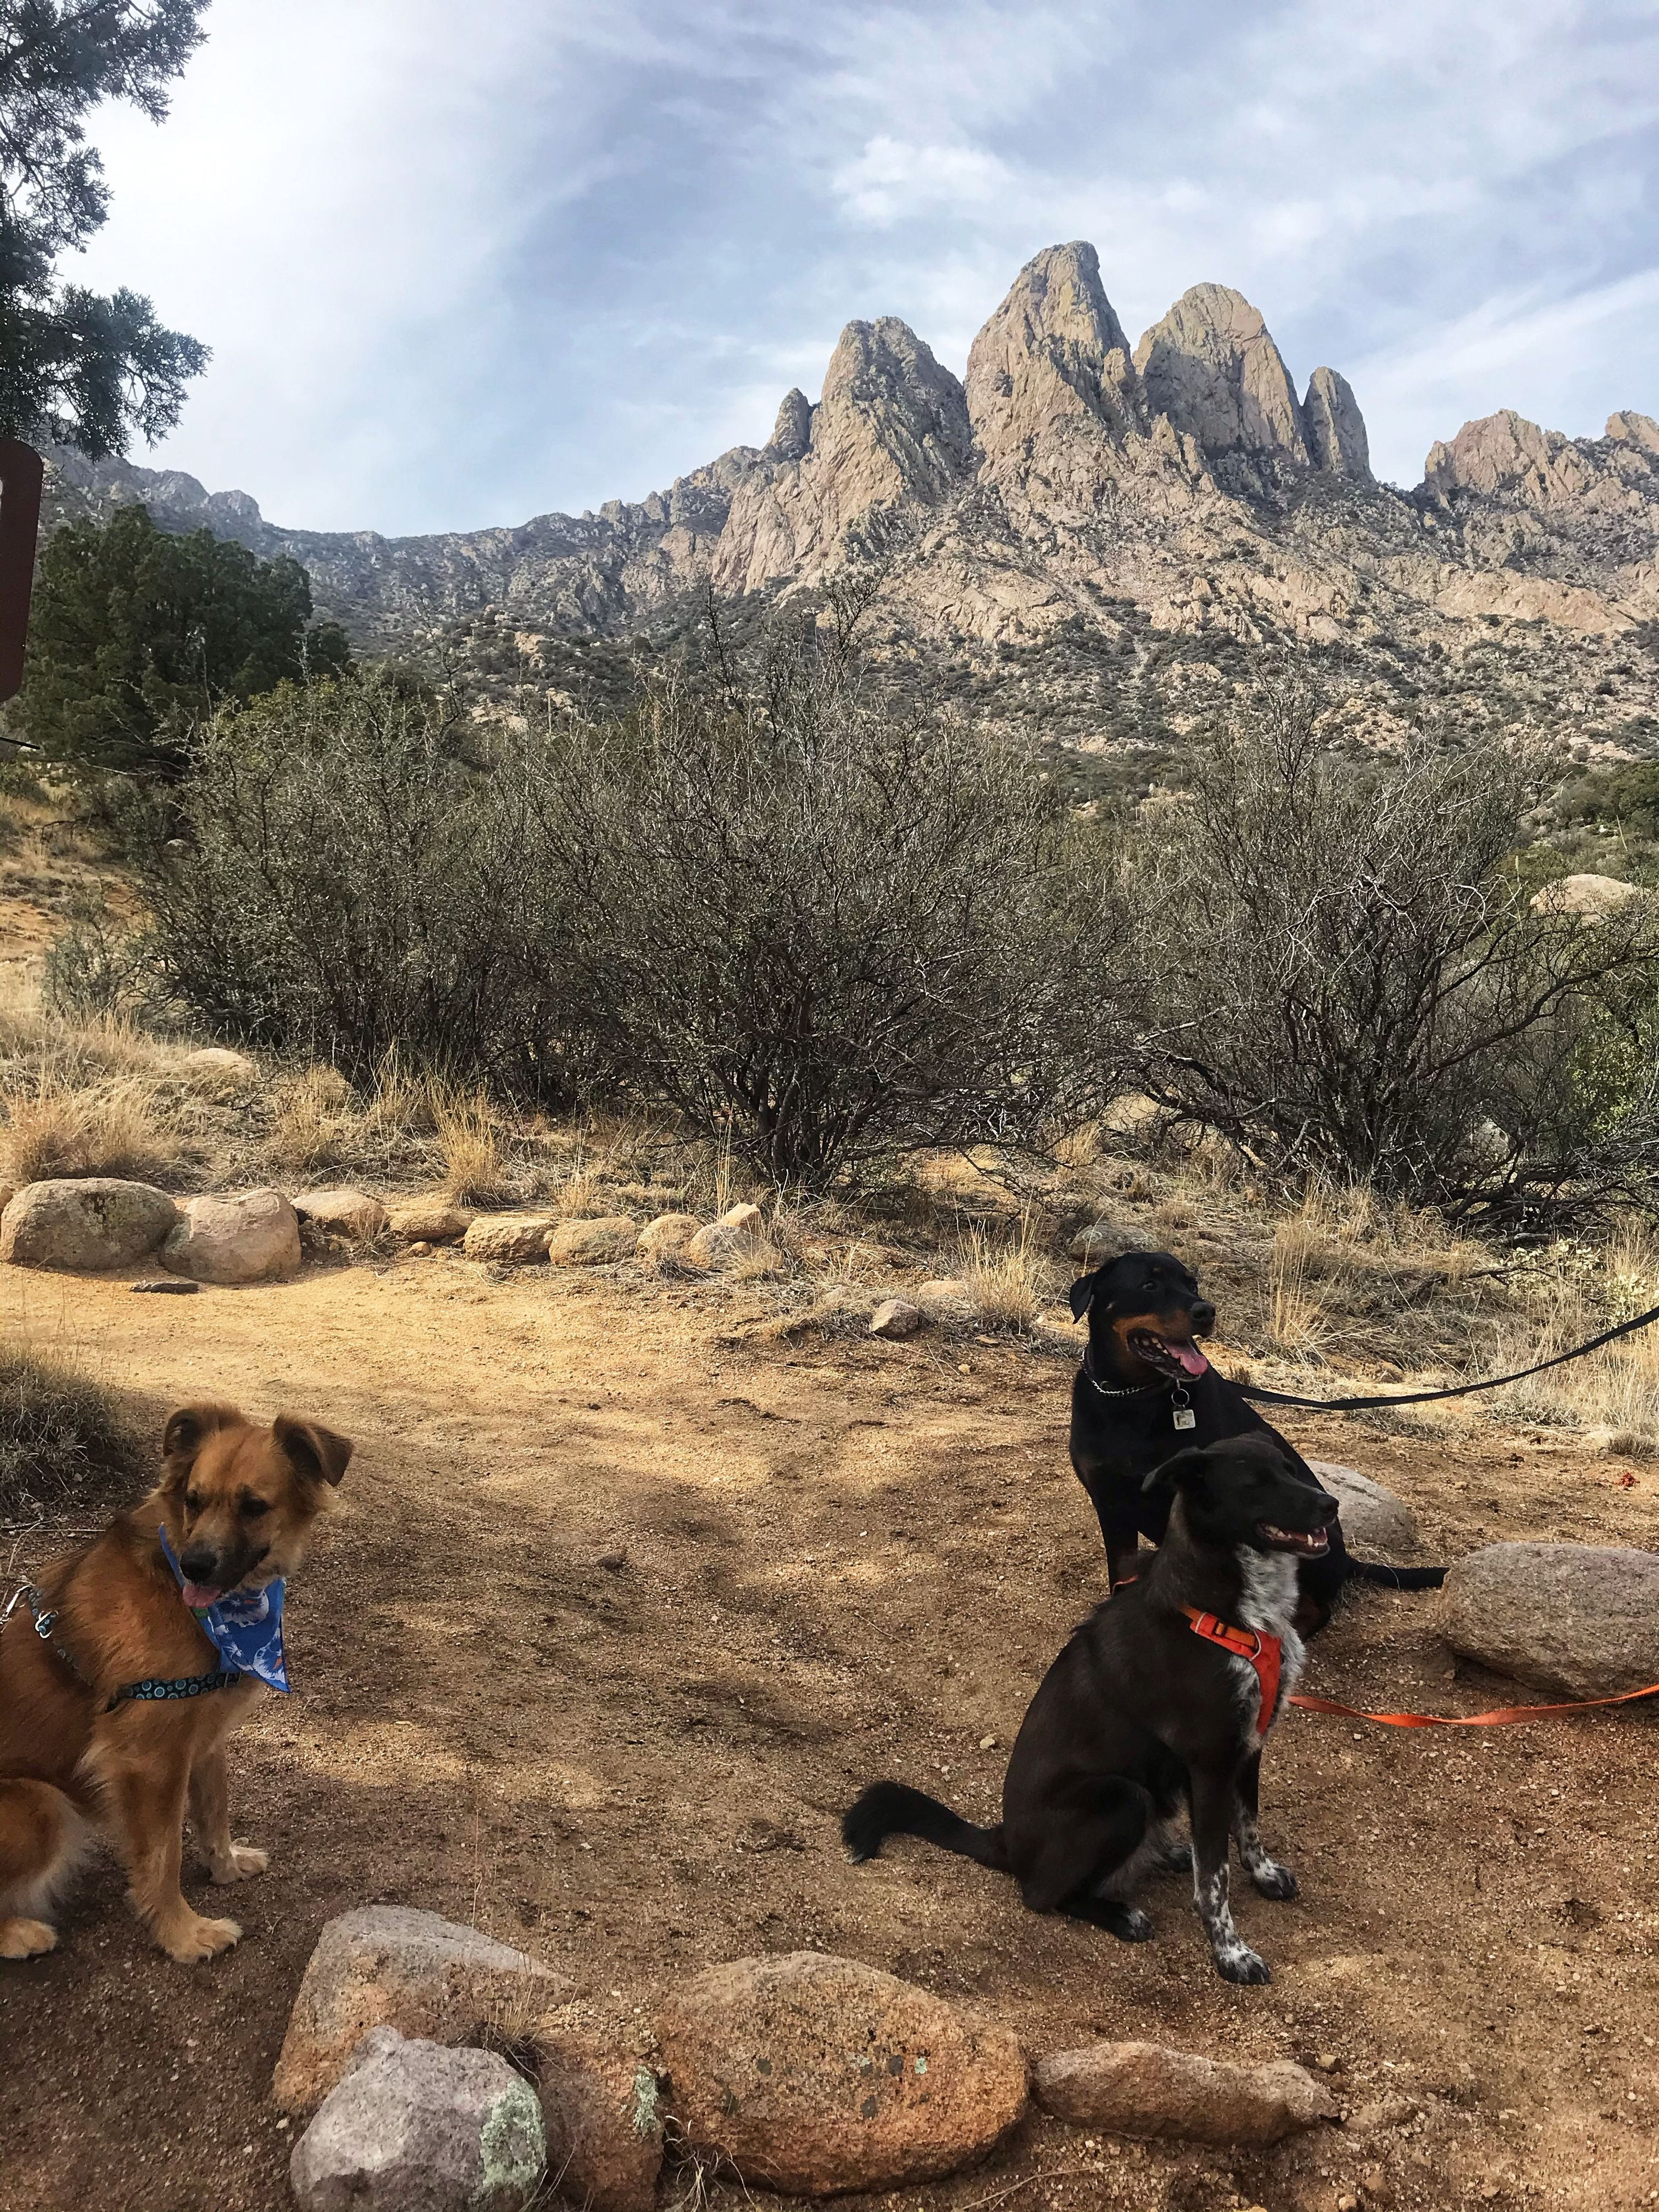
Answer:
<svg viewBox="0 0 1659 2212"><path fill-rule="evenodd" d="M301 2212L520 2212L544 2166L542 2108L507 2059L372 2028L288 2179Z"/></svg>

